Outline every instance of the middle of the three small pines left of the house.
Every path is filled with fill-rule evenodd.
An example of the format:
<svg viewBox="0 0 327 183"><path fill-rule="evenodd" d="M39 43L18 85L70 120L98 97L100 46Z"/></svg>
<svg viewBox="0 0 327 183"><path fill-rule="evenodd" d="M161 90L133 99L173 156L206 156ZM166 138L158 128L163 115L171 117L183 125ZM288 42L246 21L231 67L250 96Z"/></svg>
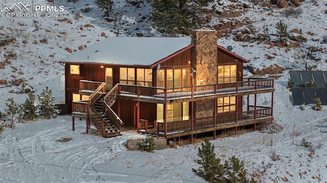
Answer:
<svg viewBox="0 0 327 183"><path fill-rule="evenodd" d="M37 117L37 106L35 106L35 95L29 93L25 102L21 104L20 110L24 113L22 119L33 120Z"/></svg>

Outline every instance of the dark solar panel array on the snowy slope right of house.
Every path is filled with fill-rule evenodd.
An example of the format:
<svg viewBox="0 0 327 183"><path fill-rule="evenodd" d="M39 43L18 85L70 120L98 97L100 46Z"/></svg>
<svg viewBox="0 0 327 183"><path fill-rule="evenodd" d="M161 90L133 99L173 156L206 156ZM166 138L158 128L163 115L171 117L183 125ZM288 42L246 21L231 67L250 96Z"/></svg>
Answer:
<svg viewBox="0 0 327 183"><path fill-rule="evenodd" d="M293 81L291 88L294 106L313 103L314 98L320 98L322 105L327 105L327 71L289 71ZM311 79L315 87L306 87Z"/></svg>

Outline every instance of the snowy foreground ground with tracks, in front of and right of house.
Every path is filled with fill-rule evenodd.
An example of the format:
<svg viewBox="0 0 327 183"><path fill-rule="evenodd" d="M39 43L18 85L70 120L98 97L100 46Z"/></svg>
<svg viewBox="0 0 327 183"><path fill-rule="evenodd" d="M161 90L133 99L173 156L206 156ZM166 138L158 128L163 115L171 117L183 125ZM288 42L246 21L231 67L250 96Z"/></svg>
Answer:
<svg viewBox="0 0 327 183"><path fill-rule="evenodd" d="M219 158L232 155L245 162L248 173L262 182L327 181L327 108L301 111L292 106L286 81L276 81L274 117L284 129L259 131L212 140ZM264 99L262 99L264 100ZM85 121L71 130L71 116L16 123L0 140L2 182L205 182L192 172L199 167L200 144L156 150L129 151L128 139L145 138L135 132L102 138L85 134ZM58 142L71 138L68 142ZM301 146L311 142L312 153Z"/></svg>

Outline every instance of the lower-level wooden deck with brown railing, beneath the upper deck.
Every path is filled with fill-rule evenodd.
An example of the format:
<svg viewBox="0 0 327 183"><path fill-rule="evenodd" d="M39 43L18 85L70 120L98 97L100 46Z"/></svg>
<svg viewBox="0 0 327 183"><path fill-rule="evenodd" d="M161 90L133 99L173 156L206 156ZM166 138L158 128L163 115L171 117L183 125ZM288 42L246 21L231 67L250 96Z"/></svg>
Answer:
<svg viewBox="0 0 327 183"><path fill-rule="evenodd" d="M250 109L254 108L250 107ZM140 132L173 138L272 120L272 108L256 107L256 110L173 121L168 122L167 125L164 122L148 122L147 120L142 119L139 121L138 126Z"/></svg>

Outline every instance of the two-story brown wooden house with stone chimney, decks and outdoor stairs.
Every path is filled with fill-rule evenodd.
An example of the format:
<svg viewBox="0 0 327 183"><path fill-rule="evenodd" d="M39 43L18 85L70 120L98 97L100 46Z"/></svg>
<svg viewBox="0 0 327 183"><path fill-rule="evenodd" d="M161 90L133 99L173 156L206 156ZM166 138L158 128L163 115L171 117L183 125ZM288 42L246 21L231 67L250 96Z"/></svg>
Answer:
<svg viewBox="0 0 327 183"><path fill-rule="evenodd" d="M248 60L217 45L214 30L191 37L109 37L62 60L73 117L103 135L125 125L167 139L253 126L273 117L273 79L243 79ZM271 93L266 106L257 95Z"/></svg>

